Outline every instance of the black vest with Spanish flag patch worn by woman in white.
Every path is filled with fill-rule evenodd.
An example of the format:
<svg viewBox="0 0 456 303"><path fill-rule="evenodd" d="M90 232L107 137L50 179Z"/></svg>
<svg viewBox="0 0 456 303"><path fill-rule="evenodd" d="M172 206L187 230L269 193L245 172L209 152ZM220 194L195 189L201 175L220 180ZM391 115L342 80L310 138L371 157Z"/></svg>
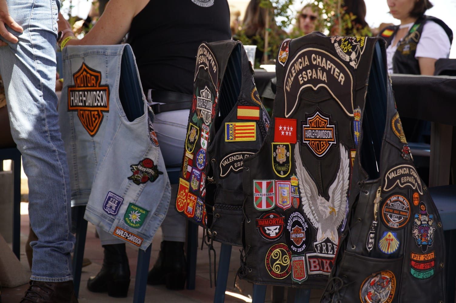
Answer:
<svg viewBox="0 0 456 303"><path fill-rule="evenodd" d="M412 74L420 75L420 65L418 60L415 59L416 46L420 41L421 33L423 32L423 27L426 22L434 21L440 25L448 35L450 39L450 44L453 41L453 32L438 18L432 16L423 15L415 21L415 24L410 28L407 36L399 42L398 48L393 56L393 72L397 74ZM387 47L394 40L396 32L399 30L399 26L388 26L379 36L386 40Z"/></svg>

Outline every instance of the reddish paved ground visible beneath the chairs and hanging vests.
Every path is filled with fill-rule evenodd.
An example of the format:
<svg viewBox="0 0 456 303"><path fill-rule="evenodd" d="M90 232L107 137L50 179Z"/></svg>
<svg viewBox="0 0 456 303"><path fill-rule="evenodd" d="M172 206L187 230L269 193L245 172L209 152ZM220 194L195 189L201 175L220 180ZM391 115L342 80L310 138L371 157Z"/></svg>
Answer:
<svg viewBox="0 0 456 303"><path fill-rule="evenodd" d="M21 263L28 268L28 264L25 256L25 242L28 235L28 215L21 216ZM202 229L200 229L199 243L201 243ZM154 241L152 242L152 254L150 259L150 267L155 262L158 256L158 251L161 242L161 230L157 232ZM214 242L217 255L220 252L220 245ZM93 225L88 224L87 241L85 246L84 257L88 257L92 264L84 267L81 277L81 288L79 291L79 302L96 302L96 303L107 303L107 302L132 302L133 301L133 288L135 285L135 273L136 273L136 262L137 262L137 250L127 245L127 254L130 261L131 270L131 282L130 289L127 298L111 298L106 293L91 293L87 290L86 284L88 277L96 275L100 270L103 262L103 249L100 246L99 240L95 237L95 228ZM213 261L212 261L213 262ZM218 264L218 260L217 260ZM229 276L227 290L239 293L244 298L234 298L231 295L225 295L225 302L251 302L249 298L252 296L252 284L237 279L237 288L233 288L234 277L239 267L239 248L233 247L231 254L231 261L229 267ZM4 288L2 290L1 299L2 303L17 303L27 289L27 284L22 285L18 288ZM271 301L271 287L267 288L266 302ZM181 291L170 291L165 286L147 286L145 302L202 302L209 303L213 302L215 288L210 288L209 285L209 261L207 255L207 248L204 246L203 251L198 250L197 257L197 276L196 276L196 289L195 290L181 290ZM286 293L286 292L285 292ZM319 302L321 291L312 291L311 303ZM286 295L285 295L286 297ZM283 300L286 302L286 298Z"/></svg>

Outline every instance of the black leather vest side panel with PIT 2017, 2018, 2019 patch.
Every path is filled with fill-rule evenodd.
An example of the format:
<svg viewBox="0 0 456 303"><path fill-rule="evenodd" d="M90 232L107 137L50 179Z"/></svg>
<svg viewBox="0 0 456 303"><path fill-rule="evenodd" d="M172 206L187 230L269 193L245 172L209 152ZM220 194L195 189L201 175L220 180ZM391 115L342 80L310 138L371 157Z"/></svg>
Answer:
<svg viewBox="0 0 456 303"><path fill-rule="evenodd" d="M374 42L367 40L368 46ZM378 41L374 55L386 58L383 41ZM321 302L443 303L445 244L440 216L413 164L386 64L372 66L371 73L381 69L383 76L369 81L369 91L384 90L368 91L368 98L360 98L356 105L361 125L347 226ZM373 110L380 103L384 110ZM381 125L378 139L375 123Z"/></svg>

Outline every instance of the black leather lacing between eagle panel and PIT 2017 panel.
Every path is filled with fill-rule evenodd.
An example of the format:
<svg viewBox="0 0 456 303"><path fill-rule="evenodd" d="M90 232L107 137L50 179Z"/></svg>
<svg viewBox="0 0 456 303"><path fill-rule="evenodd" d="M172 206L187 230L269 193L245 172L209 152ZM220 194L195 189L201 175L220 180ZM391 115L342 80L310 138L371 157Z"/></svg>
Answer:
<svg viewBox="0 0 456 303"><path fill-rule="evenodd" d="M357 187L364 192L364 190L362 190L362 187L364 185L364 181L360 181L357 183ZM356 200L356 202L358 201L358 199ZM356 202L354 204L356 204ZM352 205L352 210L355 210L356 207L355 205ZM350 213L347 214L347 216L349 216ZM351 217L351 216L350 216ZM350 220L351 218L347 218L347 220ZM351 226L349 224L349 222L347 222L347 226L346 226L346 234L343 235L343 236L346 236L343 241L347 241L347 247L350 247L351 249L355 249L356 246L355 244L353 244L352 242L352 228L355 227L357 224L359 224L360 222L362 221L361 218L356 218L355 220L353 220ZM341 241L341 243L339 243L339 249L342 248L342 245L343 245L343 242ZM338 253L338 256L341 256L340 255L341 252ZM337 264L334 264L334 266L337 266ZM322 303L326 303L326 302L334 302L334 303L342 303L342 301L340 300L340 294L339 292L343 289L343 288L346 288L348 285L354 283L355 281L352 281L352 282L347 282L347 276L345 275L342 275L342 277L331 277L328 282L326 283L326 288L325 288L325 291L323 292L323 297L321 298L321 302ZM334 301L336 300L336 301Z"/></svg>

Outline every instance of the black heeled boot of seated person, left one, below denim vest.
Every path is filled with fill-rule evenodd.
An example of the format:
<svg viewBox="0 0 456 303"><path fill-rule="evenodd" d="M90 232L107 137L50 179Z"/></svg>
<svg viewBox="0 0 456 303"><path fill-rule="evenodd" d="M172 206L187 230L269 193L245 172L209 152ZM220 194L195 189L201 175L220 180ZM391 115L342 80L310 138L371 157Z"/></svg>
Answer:
<svg viewBox="0 0 456 303"><path fill-rule="evenodd" d="M90 277L87 288L94 293L108 292L116 298L127 296L130 286L130 266L125 244L103 245L103 266L96 277Z"/></svg>

